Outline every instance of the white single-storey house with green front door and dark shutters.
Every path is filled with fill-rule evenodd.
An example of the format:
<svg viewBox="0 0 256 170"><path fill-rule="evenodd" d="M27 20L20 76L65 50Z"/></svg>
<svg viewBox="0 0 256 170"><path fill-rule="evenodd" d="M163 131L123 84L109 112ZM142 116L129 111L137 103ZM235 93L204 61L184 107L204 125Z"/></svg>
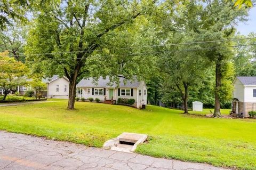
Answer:
<svg viewBox="0 0 256 170"><path fill-rule="evenodd" d="M93 78L82 79L77 85L78 98L99 98L101 101L117 100L118 98L134 99L134 106L141 108L142 104L147 105L147 86L145 81L138 81L134 78L133 81L119 78L119 86L115 83L110 83L109 77L99 78L98 82L94 82Z"/></svg>

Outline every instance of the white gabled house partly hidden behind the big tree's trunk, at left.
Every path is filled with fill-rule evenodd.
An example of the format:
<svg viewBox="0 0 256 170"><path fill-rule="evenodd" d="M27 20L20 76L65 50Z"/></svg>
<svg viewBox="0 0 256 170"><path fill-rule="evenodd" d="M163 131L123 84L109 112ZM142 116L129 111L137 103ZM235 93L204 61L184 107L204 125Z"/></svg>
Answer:
<svg viewBox="0 0 256 170"><path fill-rule="evenodd" d="M68 99L69 80L67 77L54 75L52 78L42 79L47 85L46 98Z"/></svg>

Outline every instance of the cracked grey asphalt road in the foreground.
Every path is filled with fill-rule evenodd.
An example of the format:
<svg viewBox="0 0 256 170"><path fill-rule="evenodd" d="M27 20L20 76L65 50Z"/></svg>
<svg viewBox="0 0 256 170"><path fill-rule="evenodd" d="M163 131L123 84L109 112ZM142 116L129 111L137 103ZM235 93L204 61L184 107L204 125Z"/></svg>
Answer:
<svg viewBox="0 0 256 170"><path fill-rule="evenodd" d="M0 169L222 170L208 164L153 158L0 131Z"/></svg>

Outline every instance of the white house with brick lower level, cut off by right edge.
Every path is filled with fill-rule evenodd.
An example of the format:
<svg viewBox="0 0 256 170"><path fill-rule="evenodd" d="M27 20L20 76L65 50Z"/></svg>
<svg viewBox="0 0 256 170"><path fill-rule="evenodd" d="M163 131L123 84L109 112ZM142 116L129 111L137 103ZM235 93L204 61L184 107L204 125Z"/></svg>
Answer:
<svg viewBox="0 0 256 170"><path fill-rule="evenodd" d="M256 77L236 77L233 86L232 111L249 117L249 111L256 111Z"/></svg>

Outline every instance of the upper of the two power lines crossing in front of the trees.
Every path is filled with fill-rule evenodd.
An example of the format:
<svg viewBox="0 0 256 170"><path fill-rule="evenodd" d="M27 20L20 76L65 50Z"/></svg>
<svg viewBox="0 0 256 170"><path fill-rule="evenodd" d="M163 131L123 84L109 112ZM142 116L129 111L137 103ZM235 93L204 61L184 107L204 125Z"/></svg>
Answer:
<svg viewBox="0 0 256 170"><path fill-rule="evenodd" d="M158 46L175 46L175 45L189 45L189 44L203 44L203 43L215 43L215 42L240 41L240 40L255 39L255 38L256 38L256 37L237 38L237 39L221 39L221 40L216 40L216 41L188 42L188 43L177 43L177 44L134 46L134 47L123 47L123 48L119 48L119 50L127 50L127 49L133 49L133 48L158 47ZM241 46L242 46L242 45L241 45ZM114 50L114 48L110 48L109 50ZM94 51L103 51L103 50L85 50L85 51L71 51L71 52L57 52L57 53L20 54L19 56L69 54L69 53L82 53L82 52L94 52ZM9 55L9 56L15 56L15 55Z"/></svg>

